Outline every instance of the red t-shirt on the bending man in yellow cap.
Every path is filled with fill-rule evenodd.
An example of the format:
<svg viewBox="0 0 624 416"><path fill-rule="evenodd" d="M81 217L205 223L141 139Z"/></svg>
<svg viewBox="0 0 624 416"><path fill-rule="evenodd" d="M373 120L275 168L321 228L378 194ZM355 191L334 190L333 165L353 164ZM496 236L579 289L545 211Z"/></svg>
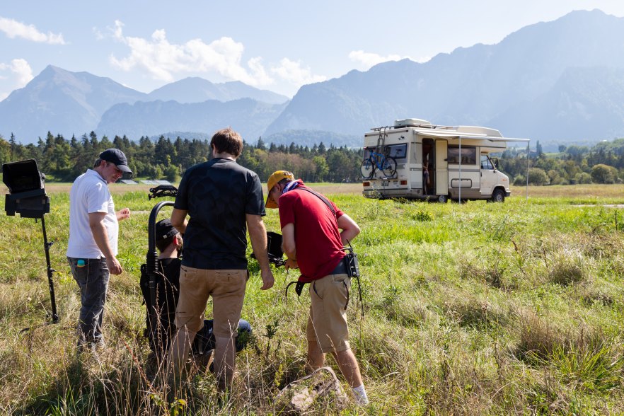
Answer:
<svg viewBox="0 0 624 416"><path fill-rule="evenodd" d="M345 257L337 218L345 214L330 201L336 215L325 202L301 186L279 197L279 221L282 229L294 224L300 282L312 282L329 275Z"/></svg>

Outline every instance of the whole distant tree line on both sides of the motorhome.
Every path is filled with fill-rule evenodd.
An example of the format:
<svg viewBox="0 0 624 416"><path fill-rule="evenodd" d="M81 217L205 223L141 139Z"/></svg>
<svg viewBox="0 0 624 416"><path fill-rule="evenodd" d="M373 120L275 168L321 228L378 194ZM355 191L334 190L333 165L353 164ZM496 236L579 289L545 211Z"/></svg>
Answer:
<svg viewBox="0 0 624 416"><path fill-rule="evenodd" d="M171 141L161 136L153 141L141 137L132 141L115 136L112 141L95 132L69 141L61 134L48 132L37 144L20 144L11 134L0 137L0 163L34 158L47 180L71 182L86 168L93 166L104 149L116 147L128 156L134 177L177 181L184 171L209 160L209 141L181 139ZM291 143L266 144L262 137L255 144L245 142L238 158L241 166L250 168L262 180L277 169L293 171L308 182L357 182L362 149L347 146L313 146ZM507 149L499 156L499 169L512 178L514 185L524 185L528 174L531 185L568 185L575 183L622 183L624 178L624 139L602 141L595 146L559 146L559 151L546 154L539 141L528 155L526 149Z"/></svg>

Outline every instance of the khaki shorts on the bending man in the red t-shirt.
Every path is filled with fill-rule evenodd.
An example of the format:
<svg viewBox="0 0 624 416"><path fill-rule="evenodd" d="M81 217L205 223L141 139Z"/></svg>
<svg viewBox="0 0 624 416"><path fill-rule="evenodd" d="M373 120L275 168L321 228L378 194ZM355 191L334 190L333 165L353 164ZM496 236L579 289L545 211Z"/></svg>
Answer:
<svg viewBox="0 0 624 416"><path fill-rule="evenodd" d="M306 334L308 342L318 342L323 352L341 352L349 349L347 303L351 278L347 275L328 275L310 283L310 318Z"/></svg>

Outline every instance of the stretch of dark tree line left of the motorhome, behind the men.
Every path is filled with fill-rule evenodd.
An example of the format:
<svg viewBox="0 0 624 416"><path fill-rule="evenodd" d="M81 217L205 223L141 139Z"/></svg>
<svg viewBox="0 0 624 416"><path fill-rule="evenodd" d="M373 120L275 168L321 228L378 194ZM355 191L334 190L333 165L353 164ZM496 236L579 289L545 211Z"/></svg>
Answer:
<svg viewBox="0 0 624 416"><path fill-rule="evenodd" d="M134 177L179 180L184 171L197 163L212 158L209 141L181 139L171 141L161 136L153 141L141 137L132 141L126 136L115 136L112 141L95 132L83 134L80 139L65 139L62 134L48 132L36 144L20 144L13 134L8 141L0 137L0 163L33 158L47 180L71 182L76 176L93 167L93 162L103 150L116 147L128 157ZM244 143L243 154L238 158L241 166L250 168L266 180L277 169L293 171L298 178L309 182L352 182L359 180L361 149L346 146L325 146L323 142L312 147L291 143L265 144L262 137L256 144Z"/></svg>

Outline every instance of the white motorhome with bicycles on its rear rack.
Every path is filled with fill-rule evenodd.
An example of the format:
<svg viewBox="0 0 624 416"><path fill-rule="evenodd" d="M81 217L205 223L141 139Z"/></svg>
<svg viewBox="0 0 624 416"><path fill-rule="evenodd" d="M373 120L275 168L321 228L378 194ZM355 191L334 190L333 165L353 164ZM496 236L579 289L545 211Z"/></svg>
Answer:
<svg viewBox="0 0 624 416"><path fill-rule="evenodd" d="M490 153L508 141L487 127L439 126L426 120L396 120L364 134L363 194L369 198L491 200L509 197L509 177ZM427 180L428 178L428 180Z"/></svg>

